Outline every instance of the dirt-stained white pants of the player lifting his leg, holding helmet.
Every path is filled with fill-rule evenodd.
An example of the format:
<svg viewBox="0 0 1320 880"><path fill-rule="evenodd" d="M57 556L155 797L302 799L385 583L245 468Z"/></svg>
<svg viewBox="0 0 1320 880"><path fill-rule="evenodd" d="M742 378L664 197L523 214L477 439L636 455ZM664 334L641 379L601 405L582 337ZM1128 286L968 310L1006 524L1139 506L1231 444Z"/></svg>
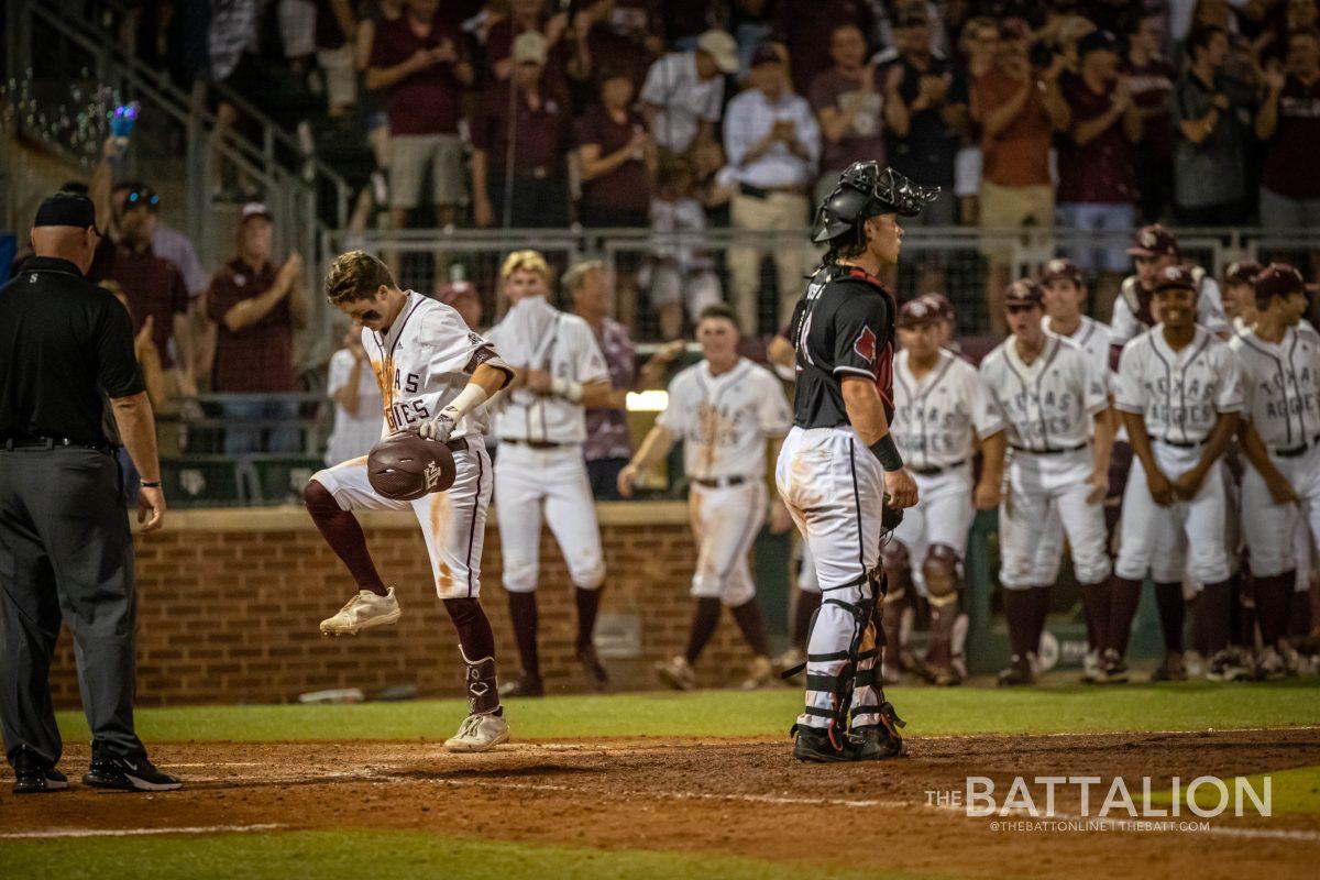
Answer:
<svg viewBox="0 0 1320 880"><path fill-rule="evenodd" d="M467 449L454 453L454 484L416 501L396 501L378 495L367 479L366 455L312 475L345 511L412 508L426 540L436 595L441 599L474 599L482 592L482 545L491 500L491 459L480 435L466 439Z"/></svg>

